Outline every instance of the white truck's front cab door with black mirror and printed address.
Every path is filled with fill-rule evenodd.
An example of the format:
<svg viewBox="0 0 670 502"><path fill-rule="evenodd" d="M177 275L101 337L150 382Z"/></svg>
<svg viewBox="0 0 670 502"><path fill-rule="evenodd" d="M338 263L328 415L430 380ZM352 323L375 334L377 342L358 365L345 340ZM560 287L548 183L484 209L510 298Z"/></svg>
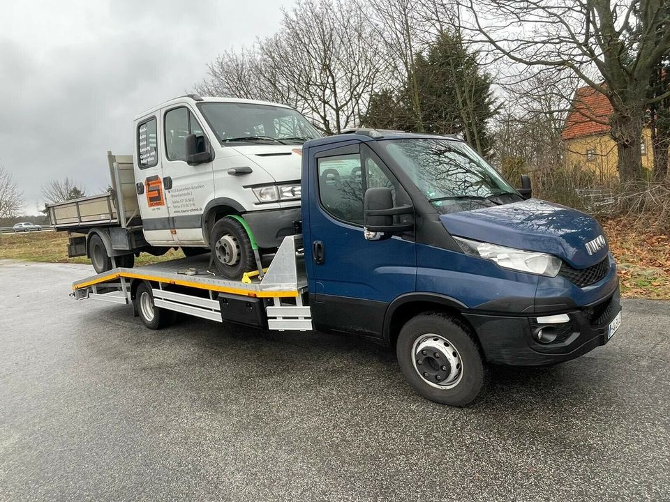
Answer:
<svg viewBox="0 0 670 502"><path fill-rule="evenodd" d="M211 162L199 165L186 163L186 136L193 134L204 141L205 133L186 105L164 110L163 124L165 197L176 231L174 238L179 244L204 245L202 211L214 191L214 171Z"/></svg>

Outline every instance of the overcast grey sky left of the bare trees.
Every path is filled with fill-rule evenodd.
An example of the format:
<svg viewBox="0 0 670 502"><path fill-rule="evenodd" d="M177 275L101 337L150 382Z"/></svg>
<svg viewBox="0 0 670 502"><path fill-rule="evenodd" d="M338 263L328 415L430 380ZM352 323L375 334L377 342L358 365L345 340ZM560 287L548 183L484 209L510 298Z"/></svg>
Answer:
<svg viewBox="0 0 670 502"><path fill-rule="evenodd" d="M274 33L291 3L1 1L0 162L24 212L54 178L105 188L106 152L132 152L135 114L191 91L224 50Z"/></svg>

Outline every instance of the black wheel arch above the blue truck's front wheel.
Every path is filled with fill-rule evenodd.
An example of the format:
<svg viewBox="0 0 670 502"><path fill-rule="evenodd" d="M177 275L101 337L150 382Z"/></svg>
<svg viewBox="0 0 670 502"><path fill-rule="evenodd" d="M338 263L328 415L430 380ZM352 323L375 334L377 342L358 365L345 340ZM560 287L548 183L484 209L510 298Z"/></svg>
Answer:
<svg viewBox="0 0 670 502"><path fill-rule="evenodd" d="M468 320L461 315L464 310L468 310L468 306L450 296L435 293L403 294L395 298L387 307L383 325L384 340L389 347L395 347L403 326L412 317L423 312L444 312L454 315L466 324L472 330L472 334L477 337Z"/></svg>

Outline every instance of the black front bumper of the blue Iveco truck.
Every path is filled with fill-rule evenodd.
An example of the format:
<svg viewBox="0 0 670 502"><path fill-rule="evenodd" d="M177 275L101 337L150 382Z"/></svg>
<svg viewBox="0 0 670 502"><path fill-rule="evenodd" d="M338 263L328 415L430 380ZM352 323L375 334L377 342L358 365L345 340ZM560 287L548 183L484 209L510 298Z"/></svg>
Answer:
<svg viewBox="0 0 670 502"><path fill-rule="evenodd" d="M538 366L562 363L592 351L609 341L608 330L620 312L619 288L596 303L562 312L543 312L516 317L509 314L463 312L477 332L484 358L490 363ZM556 340L540 343L534 333L541 328L537 317L567 314L569 321L553 324Z"/></svg>

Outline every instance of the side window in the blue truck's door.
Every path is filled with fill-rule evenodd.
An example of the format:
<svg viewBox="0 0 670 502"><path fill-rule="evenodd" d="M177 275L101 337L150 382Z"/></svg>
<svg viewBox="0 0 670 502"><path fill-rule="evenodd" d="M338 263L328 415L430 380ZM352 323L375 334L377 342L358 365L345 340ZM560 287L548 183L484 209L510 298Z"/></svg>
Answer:
<svg viewBox="0 0 670 502"><path fill-rule="evenodd" d="M322 207L338 220L363 225L363 196L368 187L393 186L371 158L366 172L361 155L336 155L318 160L319 197Z"/></svg>

